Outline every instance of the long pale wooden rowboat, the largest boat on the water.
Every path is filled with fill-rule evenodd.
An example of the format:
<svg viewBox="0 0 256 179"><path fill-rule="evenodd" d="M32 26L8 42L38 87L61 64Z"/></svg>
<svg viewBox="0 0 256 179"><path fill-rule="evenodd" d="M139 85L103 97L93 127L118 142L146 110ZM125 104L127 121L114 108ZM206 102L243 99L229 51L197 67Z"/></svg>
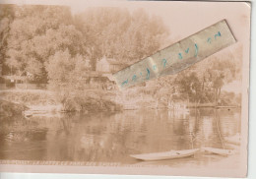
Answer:
<svg viewBox="0 0 256 179"><path fill-rule="evenodd" d="M185 156L190 156L195 154L199 149L183 149L183 150L170 150L164 152L151 152L151 153L142 153L142 154L131 154L130 156L146 160L160 160L160 159L172 159L172 158L180 158Z"/></svg>

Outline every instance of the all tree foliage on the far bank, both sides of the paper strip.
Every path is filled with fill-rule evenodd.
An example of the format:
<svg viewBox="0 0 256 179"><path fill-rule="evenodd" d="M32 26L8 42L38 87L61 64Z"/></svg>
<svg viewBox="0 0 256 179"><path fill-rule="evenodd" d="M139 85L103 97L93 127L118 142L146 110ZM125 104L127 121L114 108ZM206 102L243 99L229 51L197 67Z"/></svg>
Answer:
<svg viewBox="0 0 256 179"><path fill-rule="evenodd" d="M3 75L49 83L64 103L74 98L77 102L83 97L85 100L97 97L100 101L103 96L100 92L81 96L85 77L96 70L99 59L134 63L163 47L168 35L160 18L142 9L130 12L121 8L91 8L72 15L69 8L60 6L0 6ZM237 45L232 49L177 75L147 82L147 89L141 86L131 89L137 88L135 92L163 98L165 102L178 99L216 103L221 97L226 99L222 93L224 85L241 78L242 48ZM137 97L129 89L127 92L131 100Z"/></svg>

